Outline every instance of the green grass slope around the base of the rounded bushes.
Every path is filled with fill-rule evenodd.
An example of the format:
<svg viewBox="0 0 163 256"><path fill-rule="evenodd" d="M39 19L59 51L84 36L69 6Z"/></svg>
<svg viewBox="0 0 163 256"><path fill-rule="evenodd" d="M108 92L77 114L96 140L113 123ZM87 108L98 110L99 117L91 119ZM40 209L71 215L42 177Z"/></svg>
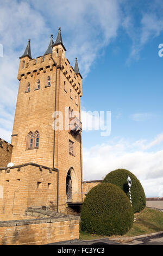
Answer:
<svg viewBox="0 0 163 256"><path fill-rule="evenodd" d="M110 238L131 237L143 234L155 233L163 231L163 212L145 208L145 210L134 215L136 222L133 223L133 227L123 236L111 236ZM101 236L96 234L89 234L80 230L81 240L93 240L102 239L107 236Z"/></svg>

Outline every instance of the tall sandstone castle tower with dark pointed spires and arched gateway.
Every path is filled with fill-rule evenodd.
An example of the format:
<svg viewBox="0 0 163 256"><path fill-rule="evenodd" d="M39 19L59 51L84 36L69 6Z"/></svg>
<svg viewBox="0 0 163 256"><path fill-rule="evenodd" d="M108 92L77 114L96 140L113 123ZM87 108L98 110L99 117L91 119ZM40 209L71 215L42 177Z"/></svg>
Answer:
<svg viewBox="0 0 163 256"><path fill-rule="evenodd" d="M43 56L32 58L30 40L20 57L20 81L11 144L15 166L33 162L59 170L59 211L66 202L81 202L82 76L65 58L59 28ZM56 184L57 186L57 184Z"/></svg>

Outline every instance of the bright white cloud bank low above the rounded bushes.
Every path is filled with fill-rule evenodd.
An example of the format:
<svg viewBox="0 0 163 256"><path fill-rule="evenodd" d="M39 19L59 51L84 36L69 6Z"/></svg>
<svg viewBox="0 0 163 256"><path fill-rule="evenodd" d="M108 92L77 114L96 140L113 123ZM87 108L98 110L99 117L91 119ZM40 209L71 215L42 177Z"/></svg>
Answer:
<svg viewBox="0 0 163 256"><path fill-rule="evenodd" d="M85 180L102 179L106 174L117 168L125 168L133 172L142 182L147 196L159 196L160 186L163 184L163 150L156 152L145 151L162 141L162 135L148 147L131 143L124 139L115 143L96 145L91 149L83 149L83 169ZM151 182L153 188L151 190Z"/></svg>

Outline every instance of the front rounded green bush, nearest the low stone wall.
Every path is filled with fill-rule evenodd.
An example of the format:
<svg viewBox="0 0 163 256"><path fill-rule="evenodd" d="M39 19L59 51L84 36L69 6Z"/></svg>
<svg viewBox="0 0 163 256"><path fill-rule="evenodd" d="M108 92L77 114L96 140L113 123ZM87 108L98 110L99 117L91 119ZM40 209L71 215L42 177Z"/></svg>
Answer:
<svg viewBox="0 0 163 256"><path fill-rule="evenodd" d="M81 229L91 234L123 235L133 224L133 209L121 188L102 183L87 193L81 211Z"/></svg>

